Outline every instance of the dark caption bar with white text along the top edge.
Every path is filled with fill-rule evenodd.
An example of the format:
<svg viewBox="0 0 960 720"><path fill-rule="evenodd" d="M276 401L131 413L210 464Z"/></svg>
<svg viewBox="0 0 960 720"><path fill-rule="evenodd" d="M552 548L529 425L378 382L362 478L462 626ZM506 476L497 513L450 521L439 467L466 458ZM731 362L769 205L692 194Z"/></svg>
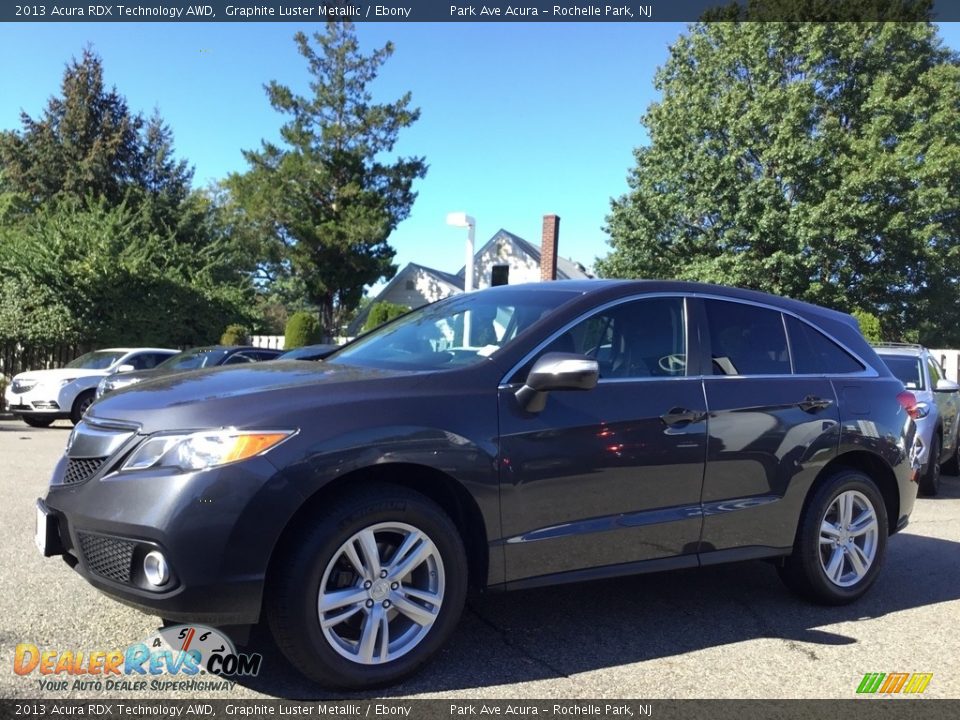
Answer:
<svg viewBox="0 0 960 720"><path fill-rule="evenodd" d="M750 5L749 10L747 9ZM92 4L65 0L3 3L2 22L695 22L960 21L960 0L647 0L451 2L262 0L206 3L141 0Z"/></svg>

